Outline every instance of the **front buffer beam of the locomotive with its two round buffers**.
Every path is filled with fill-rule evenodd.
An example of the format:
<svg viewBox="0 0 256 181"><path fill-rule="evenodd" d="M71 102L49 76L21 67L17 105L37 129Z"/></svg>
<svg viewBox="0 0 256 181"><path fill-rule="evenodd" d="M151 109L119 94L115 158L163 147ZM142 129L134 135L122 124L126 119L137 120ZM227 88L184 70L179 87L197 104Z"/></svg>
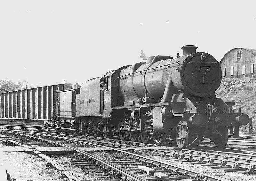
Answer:
<svg viewBox="0 0 256 181"><path fill-rule="evenodd" d="M188 120L188 126L205 127L214 125L219 127L241 126L249 123L249 116L244 113L212 113L209 117L206 113L184 113Z"/></svg>

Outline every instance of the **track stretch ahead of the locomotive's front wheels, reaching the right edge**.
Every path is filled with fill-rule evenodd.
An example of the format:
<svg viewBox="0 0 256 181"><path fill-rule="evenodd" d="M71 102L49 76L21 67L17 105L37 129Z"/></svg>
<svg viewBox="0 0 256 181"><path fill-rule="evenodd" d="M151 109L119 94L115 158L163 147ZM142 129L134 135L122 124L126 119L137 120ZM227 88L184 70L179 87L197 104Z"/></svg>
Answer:
<svg viewBox="0 0 256 181"><path fill-rule="evenodd" d="M181 153L165 150L155 151L166 156L167 159L210 166L212 169L224 169L226 172L244 171L243 174L256 174L256 155L191 149L182 149Z"/></svg>

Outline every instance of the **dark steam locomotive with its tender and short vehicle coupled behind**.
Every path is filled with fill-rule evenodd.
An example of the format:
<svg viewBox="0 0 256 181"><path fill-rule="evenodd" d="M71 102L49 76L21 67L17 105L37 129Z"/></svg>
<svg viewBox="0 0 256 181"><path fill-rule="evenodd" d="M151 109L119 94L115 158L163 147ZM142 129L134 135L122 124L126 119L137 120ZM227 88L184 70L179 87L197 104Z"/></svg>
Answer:
<svg viewBox="0 0 256 181"><path fill-rule="evenodd" d="M249 117L216 96L220 63L194 45L181 49L182 57L148 57L57 92L56 117L45 126L156 145L174 140L179 148L207 137L225 147L228 127L246 125Z"/></svg>

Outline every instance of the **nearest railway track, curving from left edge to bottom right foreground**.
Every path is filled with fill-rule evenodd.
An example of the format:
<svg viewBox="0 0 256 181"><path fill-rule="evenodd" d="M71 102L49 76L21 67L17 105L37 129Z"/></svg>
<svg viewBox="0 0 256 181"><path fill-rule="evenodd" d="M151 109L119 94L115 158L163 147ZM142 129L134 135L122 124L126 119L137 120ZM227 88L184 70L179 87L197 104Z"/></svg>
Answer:
<svg viewBox="0 0 256 181"><path fill-rule="evenodd" d="M33 139L37 141L43 141L44 143L48 143L49 145L69 147L70 149L74 149L81 155L81 159L83 159L84 163L90 163L96 166L99 166L100 169L104 169L107 172L115 175L116 179L120 180L209 180L209 181L224 181L226 179L215 177L212 175L200 173L194 170L190 170L187 168L183 168L177 165L173 165L171 163L159 161L153 158L148 158L142 155L137 155L128 151L120 150L116 147L107 147L103 145L97 145L94 143L88 143L81 140L75 140L72 138L63 138L60 136L52 136L52 135L42 135L42 133L38 133L36 135L28 135L31 133L25 133L22 131L12 131L12 130L1 130L1 133L11 134L15 136L25 137L28 139ZM65 140L66 143L63 143ZM72 146L69 146L69 144ZM76 146L75 146L76 145ZM89 146L90 145L90 146ZM108 148L113 151L122 153L124 157L118 157L116 160L104 161L100 158L96 158L95 156L88 154L81 150L81 146L83 147L103 147ZM129 165L127 165L129 163ZM131 172L132 171L132 172Z"/></svg>

